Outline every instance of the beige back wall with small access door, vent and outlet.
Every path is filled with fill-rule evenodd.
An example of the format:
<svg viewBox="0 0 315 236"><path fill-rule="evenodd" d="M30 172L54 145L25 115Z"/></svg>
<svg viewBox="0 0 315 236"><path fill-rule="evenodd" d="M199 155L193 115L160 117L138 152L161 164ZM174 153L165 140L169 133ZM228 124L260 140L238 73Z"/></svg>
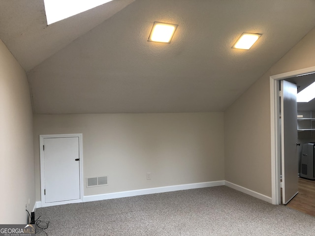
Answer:
<svg viewBox="0 0 315 236"><path fill-rule="evenodd" d="M84 181L108 175L108 186L84 186L85 196L224 179L221 112L34 115L36 201L39 135L67 133L83 134Z"/></svg>

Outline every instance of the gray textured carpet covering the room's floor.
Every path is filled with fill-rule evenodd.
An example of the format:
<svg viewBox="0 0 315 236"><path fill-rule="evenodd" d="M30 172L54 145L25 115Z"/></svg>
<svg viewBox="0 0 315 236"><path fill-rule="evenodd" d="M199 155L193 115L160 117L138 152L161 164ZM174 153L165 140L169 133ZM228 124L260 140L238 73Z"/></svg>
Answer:
<svg viewBox="0 0 315 236"><path fill-rule="evenodd" d="M315 217L226 186L39 208L49 236L315 236Z"/></svg>

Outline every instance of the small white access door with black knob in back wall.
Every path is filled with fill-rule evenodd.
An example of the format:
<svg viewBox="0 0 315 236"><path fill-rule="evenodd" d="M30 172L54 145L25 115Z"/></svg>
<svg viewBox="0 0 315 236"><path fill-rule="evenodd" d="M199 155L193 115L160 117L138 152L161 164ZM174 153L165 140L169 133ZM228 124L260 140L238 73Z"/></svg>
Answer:
<svg viewBox="0 0 315 236"><path fill-rule="evenodd" d="M80 199L79 138L44 138L45 203Z"/></svg>

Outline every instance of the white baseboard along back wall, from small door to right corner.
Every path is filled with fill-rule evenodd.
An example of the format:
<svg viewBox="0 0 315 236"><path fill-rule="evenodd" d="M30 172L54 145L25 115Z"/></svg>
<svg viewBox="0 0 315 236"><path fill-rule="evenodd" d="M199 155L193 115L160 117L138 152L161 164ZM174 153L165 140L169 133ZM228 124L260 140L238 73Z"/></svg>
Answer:
<svg viewBox="0 0 315 236"><path fill-rule="evenodd" d="M224 180L173 185L173 186L165 186L165 187L158 187L158 188L147 188L147 189L131 190L131 191L117 192L117 193L105 193L105 194L99 194L99 195L84 196L83 202L133 197L133 196L140 196L140 195L153 194L153 193L165 193L165 192L187 190L187 189L194 189L194 188L207 188L207 187L214 187L214 186L221 186L221 185L224 185Z"/></svg>

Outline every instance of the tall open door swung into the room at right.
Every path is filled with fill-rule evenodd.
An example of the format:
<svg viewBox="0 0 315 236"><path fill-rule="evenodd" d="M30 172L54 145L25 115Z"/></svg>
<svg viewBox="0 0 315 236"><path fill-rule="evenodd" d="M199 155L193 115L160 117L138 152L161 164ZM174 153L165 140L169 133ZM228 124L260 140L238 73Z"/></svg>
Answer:
<svg viewBox="0 0 315 236"><path fill-rule="evenodd" d="M297 87L282 80L281 91L282 202L287 204L298 193Z"/></svg>

